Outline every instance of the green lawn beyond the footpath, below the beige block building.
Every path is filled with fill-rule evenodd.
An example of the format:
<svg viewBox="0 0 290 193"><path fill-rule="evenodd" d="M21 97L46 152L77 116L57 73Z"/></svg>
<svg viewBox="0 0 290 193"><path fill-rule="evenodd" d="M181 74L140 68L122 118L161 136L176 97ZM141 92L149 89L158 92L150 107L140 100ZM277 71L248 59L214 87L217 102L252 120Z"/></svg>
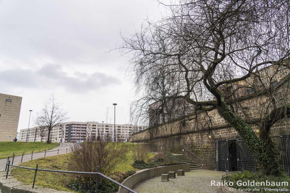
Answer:
<svg viewBox="0 0 290 193"><path fill-rule="evenodd" d="M7 159L7 157L12 157L13 152L15 152L16 155L21 155L22 153L16 153L16 152L24 152L25 153L31 153L32 150L34 152L44 151L44 148L48 150L48 148L52 148L53 146L57 146L59 143L50 143L47 144L46 142L0 142L0 159ZM7 154L8 155L1 155L1 154Z"/></svg>

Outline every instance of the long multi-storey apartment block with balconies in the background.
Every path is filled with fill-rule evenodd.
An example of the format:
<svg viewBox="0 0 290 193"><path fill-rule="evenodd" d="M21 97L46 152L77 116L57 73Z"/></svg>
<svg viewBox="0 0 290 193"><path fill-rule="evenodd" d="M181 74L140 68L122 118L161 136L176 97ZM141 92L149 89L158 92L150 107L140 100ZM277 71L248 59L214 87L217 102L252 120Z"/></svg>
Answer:
<svg viewBox="0 0 290 193"><path fill-rule="evenodd" d="M146 127L123 124L115 125L116 141L126 142L131 134L142 131ZM28 131L28 136L27 136ZM43 135L42 141L47 141L47 132ZM99 122L66 122L56 125L50 132L51 142L74 142L85 140L87 137L101 138L104 141L114 139L114 124ZM40 130L37 127L21 129L19 141L41 141Z"/></svg>

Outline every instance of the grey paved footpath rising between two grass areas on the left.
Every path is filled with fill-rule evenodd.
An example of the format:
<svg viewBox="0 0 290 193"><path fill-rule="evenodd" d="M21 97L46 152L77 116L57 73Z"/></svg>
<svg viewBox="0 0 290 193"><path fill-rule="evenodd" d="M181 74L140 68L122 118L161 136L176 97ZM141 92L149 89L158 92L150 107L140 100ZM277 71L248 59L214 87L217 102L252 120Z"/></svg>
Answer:
<svg viewBox="0 0 290 193"><path fill-rule="evenodd" d="M66 149L67 149L67 153L69 153L70 150L71 150L70 144L71 143L60 143L60 146L58 146L58 147L56 147L54 149L48 150L48 151L46 151L46 153L44 151L43 152L35 152L32 155L32 159L35 160L37 158L44 157L44 154L45 154L45 157L55 156L55 155L57 155L57 150L59 150L58 151L59 155L66 153ZM15 157L14 161L13 161L13 164L20 163L21 162L21 157L22 156ZM29 161L29 160L31 160L31 154L26 154L26 155L23 156L22 162L26 162L26 161ZM3 169L3 168L5 169L6 161L7 161L7 159L0 160L0 169ZM12 160L11 160L10 163L12 163Z"/></svg>

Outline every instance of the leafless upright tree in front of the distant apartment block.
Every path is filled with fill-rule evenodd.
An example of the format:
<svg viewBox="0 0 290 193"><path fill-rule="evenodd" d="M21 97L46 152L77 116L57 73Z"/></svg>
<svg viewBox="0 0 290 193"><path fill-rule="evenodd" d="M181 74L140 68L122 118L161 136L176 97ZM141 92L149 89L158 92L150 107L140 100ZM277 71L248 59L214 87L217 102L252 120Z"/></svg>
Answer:
<svg viewBox="0 0 290 193"><path fill-rule="evenodd" d="M50 97L50 102L44 104L42 111L40 113L37 112L36 122L43 124L47 129L48 144L52 139L52 136L50 136L51 129L59 123L66 121L68 119L66 114L67 112L61 108L61 103L56 103L53 95Z"/></svg>

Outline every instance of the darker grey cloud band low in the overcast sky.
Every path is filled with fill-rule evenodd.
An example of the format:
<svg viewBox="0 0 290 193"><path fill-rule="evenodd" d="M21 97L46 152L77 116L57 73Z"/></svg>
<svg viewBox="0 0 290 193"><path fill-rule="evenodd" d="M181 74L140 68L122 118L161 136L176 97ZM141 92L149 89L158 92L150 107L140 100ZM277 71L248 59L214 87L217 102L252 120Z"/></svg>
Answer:
<svg viewBox="0 0 290 193"><path fill-rule="evenodd" d="M59 64L46 64L36 70L8 69L0 71L1 87L23 87L33 89L64 89L69 93L89 93L103 87L118 85L120 80L105 73L75 72L69 75ZM2 85L2 86L1 86Z"/></svg>

